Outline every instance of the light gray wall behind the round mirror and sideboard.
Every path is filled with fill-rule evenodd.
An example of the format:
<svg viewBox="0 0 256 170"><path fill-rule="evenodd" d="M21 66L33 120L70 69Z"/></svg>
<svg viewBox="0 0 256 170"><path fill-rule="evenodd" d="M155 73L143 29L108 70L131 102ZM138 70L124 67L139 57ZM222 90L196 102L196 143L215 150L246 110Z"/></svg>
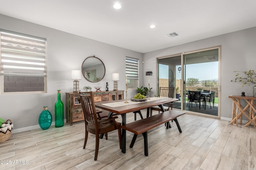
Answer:
<svg viewBox="0 0 256 170"><path fill-rule="evenodd" d="M71 70L80 70L86 57L95 55L101 59L105 64L106 74L102 81L96 83L88 82L82 76L80 90L84 86L91 86L92 88L102 86L102 90L106 90L106 82L109 84L109 90L112 90L112 73L115 72L120 73L118 89L125 90L125 57L138 58L142 62L142 53L1 14L0 28L47 39L48 92L44 94L0 95L0 117L12 120L14 123L13 133L38 128L38 117L43 110L43 106L48 106L54 121L54 104L57 100L57 90L61 90L61 100L64 103L65 110L64 118L66 118L65 92L73 92ZM141 76L142 73L140 71ZM142 81L140 81L140 84L142 84ZM134 94L136 94L135 89L128 90L128 98L131 98Z"/></svg>

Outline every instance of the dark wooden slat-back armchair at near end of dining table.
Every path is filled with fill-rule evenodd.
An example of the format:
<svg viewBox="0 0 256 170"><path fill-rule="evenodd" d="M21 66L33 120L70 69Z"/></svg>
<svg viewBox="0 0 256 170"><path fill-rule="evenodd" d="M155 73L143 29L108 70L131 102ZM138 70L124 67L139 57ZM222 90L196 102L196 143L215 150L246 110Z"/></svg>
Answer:
<svg viewBox="0 0 256 170"><path fill-rule="evenodd" d="M79 91L79 94L81 98L85 122L84 149L86 147L88 139L88 132L90 132L96 136L94 160L97 160L100 143L100 134L108 133L114 130L118 130L119 147L121 149L121 123L116 122L115 120L118 117L114 116L110 118L99 119L94 105L93 93Z"/></svg>

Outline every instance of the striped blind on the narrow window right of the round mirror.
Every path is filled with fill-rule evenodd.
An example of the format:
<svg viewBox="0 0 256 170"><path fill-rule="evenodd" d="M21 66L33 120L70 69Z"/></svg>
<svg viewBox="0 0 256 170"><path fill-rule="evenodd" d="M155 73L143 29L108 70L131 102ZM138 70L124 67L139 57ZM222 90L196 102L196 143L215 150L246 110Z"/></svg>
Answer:
<svg viewBox="0 0 256 170"><path fill-rule="evenodd" d="M134 79L138 80L139 78L139 60L132 58L132 57L126 57L126 76L128 79Z"/></svg>

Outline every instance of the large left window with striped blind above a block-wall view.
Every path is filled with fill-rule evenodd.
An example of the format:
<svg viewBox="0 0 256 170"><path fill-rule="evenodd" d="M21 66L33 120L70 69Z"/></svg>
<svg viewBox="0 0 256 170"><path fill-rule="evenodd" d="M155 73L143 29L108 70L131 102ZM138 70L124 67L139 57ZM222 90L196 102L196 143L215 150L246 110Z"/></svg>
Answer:
<svg viewBox="0 0 256 170"><path fill-rule="evenodd" d="M1 94L46 92L46 39L0 29Z"/></svg>

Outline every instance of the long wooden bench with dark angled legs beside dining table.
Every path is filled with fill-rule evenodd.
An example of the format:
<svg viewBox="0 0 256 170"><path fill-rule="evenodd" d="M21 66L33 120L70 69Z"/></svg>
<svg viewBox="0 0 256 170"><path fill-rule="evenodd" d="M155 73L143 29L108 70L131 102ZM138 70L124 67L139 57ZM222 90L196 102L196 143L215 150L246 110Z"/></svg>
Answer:
<svg viewBox="0 0 256 170"><path fill-rule="evenodd" d="M184 115L184 114L185 114L184 111L168 110L168 111L164 111L162 113L150 116L146 119L140 119L138 121L134 121L131 123L127 123L126 125L122 125L122 129L125 129L127 131L134 133L132 142L130 144L130 148L133 147L137 136L142 134L144 137L144 154L145 154L145 156L148 156L148 133L147 133L147 131L150 129L153 129L154 127L162 125L166 122L174 120L178 127L178 130L180 131L180 133L182 133L177 117Z"/></svg>

